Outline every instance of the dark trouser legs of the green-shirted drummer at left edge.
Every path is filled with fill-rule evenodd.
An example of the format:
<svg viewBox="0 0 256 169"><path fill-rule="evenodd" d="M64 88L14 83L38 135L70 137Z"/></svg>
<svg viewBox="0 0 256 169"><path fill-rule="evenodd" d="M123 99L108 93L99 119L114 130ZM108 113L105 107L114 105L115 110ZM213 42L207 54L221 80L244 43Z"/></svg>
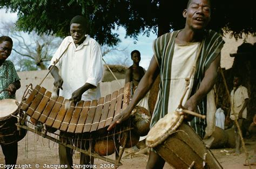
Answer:
<svg viewBox="0 0 256 169"><path fill-rule="evenodd" d="M5 164L16 164L18 157L18 143L1 144Z"/></svg>

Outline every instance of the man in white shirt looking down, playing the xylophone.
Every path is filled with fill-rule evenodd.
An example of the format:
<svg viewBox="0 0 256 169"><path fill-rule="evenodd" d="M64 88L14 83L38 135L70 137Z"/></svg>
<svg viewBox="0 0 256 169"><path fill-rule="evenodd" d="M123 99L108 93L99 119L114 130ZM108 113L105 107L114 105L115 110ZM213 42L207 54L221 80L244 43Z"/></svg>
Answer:
<svg viewBox="0 0 256 169"><path fill-rule="evenodd" d="M51 59L49 67L64 53L51 70L51 75L55 79L54 85L56 89L62 89L59 92L60 96L70 98L75 103L81 99L98 99L99 83L103 75L100 45L86 35L86 19L83 16L71 19L70 35L63 40ZM71 148L59 145L60 164L72 168L72 154ZM93 164L93 157L81 153L80 164Z"/></svg>

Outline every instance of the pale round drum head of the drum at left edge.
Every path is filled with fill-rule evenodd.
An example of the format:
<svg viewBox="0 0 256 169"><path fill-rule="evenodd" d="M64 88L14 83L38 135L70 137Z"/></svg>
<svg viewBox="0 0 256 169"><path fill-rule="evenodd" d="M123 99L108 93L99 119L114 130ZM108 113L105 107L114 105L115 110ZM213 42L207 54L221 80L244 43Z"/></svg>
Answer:
<svg viewBox="0 0 256 169"><path fill-rule="evenodd" d="M0 100L0 120L7 119L17 112L18 106L15 99Z"/></svg>

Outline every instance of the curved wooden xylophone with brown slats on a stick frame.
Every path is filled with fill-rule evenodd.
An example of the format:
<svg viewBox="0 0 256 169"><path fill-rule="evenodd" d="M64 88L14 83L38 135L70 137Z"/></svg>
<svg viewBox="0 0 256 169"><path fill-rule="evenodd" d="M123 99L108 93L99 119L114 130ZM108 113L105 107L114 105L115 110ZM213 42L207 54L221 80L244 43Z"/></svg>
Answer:
<svg viewBox="0 0 256 169"><path fill-rule="evenodd" d="M70 102L68 99L65 99L62 96L52 97L51 92L46 91L44 87L37 85L20 106L20 109L25 111L24 118L21 122L24 124L24 121L27 120L26 117L29 116L31 121L35 123L35 126L38 122L42 123L45 125L46 130L37 131L31 129L29 126L22 125L22 123L20 127L55 141L58 144L83 152L89 156L109 161L117 166L122 165L122 163L120 163L120 158L122 157L126 143L129 143L128 137L131 134L132 127L128 125L119 127L119 130L113 130L112 133L107 132L106 129L113 119L129 104L131 90L133 91L133 86L130 85L130 83L127 83L124 87L118 91L114 91L112 94L108 94L105 98L102 97L98 100L91 101L81 100L76 105L71 103L71 106L68 109L65 109L66 102ZM131 125L131 123L127 124ZM54 129L49 132L56 132L58 130L59 132L66 134L63 134L60 139L56 139L48 134L47 129ZM114 137L116 135L117 137ZM96 142L95 145L97 146L99 144L101 146L101 143L105 143L106 141L107 145L110 145L113 144L113 141L116 141L118 137L120 139L121 135L124 140L123 148L119 153L116 153L117 160L102 157L108 156L110 154L109 152L105 152L106 155L102 155L98 153L100 151L83 150L80 148L83 146L79 146L79 143L87 140ZM67 139L75 138L75 142L78 144L76 146L67 144L63 141L64 137ZM98 143L95 140L98 140ZM114 142L115 146L118 146L119 144L120 143L118 142ZM114 149L116 152L119 151L119 146L114 147Z"/></svg>

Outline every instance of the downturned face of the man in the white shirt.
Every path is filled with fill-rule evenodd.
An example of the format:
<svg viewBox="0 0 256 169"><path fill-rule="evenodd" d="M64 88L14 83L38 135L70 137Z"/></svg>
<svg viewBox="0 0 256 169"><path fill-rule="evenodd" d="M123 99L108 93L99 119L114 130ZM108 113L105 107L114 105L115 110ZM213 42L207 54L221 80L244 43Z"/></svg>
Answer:
<svg viewBox="0 0 256 169"><path fill-rule="evenodd" d="M70 35L73 38L75 44L82 44L85 36L85 29L81 24L72 23L70 25Z"/></svg>

